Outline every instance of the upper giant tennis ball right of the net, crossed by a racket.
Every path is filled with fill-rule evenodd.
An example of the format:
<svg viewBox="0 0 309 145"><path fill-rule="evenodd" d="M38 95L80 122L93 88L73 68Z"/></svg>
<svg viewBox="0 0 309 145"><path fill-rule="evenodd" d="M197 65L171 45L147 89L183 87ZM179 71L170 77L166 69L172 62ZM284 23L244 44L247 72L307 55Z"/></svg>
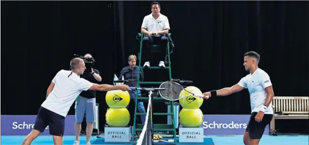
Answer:
<svg viewBox="0 0 309 145"><path fill-rule="evenodd" d="M186 109L197 109L200 108L203 104L204 99L201 97L195 97L192 96L189 92L194 93L194 94L198 94L198 95L202 95L202 91L194 86L189 86L187 88L185 88L187 91L182 90L179 94L179 97L182 96L186 96L183 98L179 99L179 103L181 105L182 108L186 108Z"/></svg>

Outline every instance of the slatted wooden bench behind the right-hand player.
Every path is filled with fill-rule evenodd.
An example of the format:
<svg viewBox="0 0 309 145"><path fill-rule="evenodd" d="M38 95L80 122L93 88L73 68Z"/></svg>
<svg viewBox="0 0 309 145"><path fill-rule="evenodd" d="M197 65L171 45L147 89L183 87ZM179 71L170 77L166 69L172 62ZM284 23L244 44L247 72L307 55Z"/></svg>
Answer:
<svg viewBox="0 0 309 145"><path fill-rule="evenodd" d="M272 107L272 130L275 130L275 119L309 119L309 97L274 97ZM276 112L282 112L283 115L276 115Z"/></svg>

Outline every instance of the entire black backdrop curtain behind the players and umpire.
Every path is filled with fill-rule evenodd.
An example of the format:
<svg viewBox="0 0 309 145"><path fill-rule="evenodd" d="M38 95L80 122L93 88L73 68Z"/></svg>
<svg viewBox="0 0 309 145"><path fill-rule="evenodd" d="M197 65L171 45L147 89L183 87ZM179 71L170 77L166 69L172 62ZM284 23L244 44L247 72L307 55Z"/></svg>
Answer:
<svg viewBox="0 0 309 145"><path fill-rule="evenodd" d="M51 79L69 69L74 53L93 54L102 83L111 84L127 57L138 54L136 36L151 2L1 1L1 114L36 114ZM308 96L308 1L159 2L175 43L172 78L192 80L203 92L228 87L247 74L243 54L257 51L275 96ZM145 81L167 77L167 71L145 72ZM99 92L97 97L101 130L104 96ZM154 105L154 112L166 112L160 105ZM206 100L201 110L249 114L248 91Z"/></svg>

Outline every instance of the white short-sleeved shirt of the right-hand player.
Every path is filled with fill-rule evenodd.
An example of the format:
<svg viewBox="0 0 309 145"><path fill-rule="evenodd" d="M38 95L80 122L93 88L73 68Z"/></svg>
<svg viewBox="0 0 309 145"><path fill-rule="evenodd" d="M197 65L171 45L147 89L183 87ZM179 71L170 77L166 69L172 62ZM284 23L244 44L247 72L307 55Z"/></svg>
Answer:
<svg viewBox="0 0 309 145"><path fill-rule="evenodd" d="M243 77L238 84L241 87L248 88L251 101L251 113L259 112L260 107L264 105L267 97L265 88L272 85L268 74L264 70L257 68L253 74ZM264 113L273 114L272 105L269 105Z"/></svg>

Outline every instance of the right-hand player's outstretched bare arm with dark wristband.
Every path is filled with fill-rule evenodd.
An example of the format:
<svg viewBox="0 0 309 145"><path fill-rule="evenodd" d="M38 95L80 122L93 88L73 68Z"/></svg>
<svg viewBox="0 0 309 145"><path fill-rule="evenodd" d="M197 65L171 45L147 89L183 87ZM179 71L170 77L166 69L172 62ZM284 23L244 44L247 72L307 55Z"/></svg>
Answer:
<svg viewBox="0 0 309 145"><path fill-rule="evenodd" d="M205 92L203 93L203 95L204 95L204 98L208 99L209 97L215 97L215 96L228 96L233 93L240 92L243 89L244 87L241 87L239 84L235 84L232 87L223 88L220 90L213 90L210 92ZM209 96L209 97L206 97L206 96Z"/></svg>

